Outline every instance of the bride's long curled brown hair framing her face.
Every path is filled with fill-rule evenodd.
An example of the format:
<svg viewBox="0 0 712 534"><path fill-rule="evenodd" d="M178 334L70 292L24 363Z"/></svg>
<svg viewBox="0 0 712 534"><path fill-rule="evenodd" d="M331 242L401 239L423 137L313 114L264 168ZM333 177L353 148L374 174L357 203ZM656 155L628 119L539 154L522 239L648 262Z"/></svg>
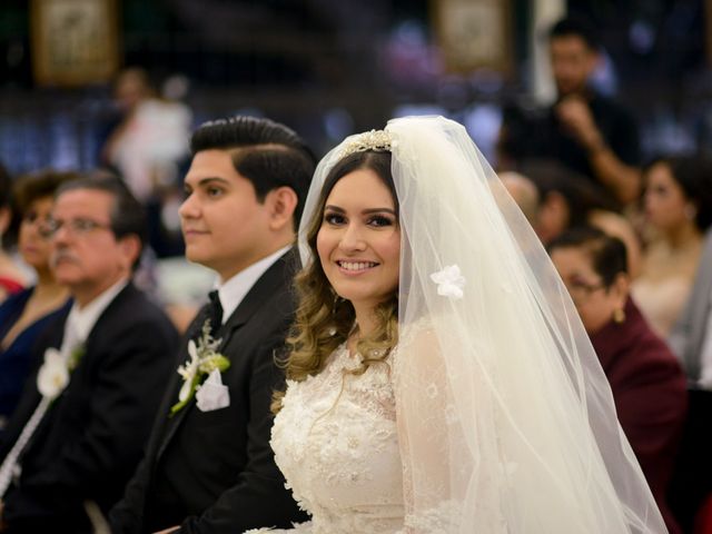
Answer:
<svg viewBox="0 0 712 534"><path fill-rule="evenodd" d="M398 214L393 176L390 174L390 152L365 150L350 154L340 159L329 171L319 194L314 217L306 226L306 241L312 259L295 277L297 312L289 337L287 356L280 362L291 380L304 380L324 369L329 355L346 342L355 327L356 315L350 301L338 296L322 268L316 248L316 239L324 218L324 207L332 189L344 176L359 169L373 170L390 191ZM377 327L368 336L360 337L356 344L363 357L362 365L354 374L363 374L369 365L383 362L398 339L398 290L380 303L374 310ZM273 412L281 408L284 392L277 392L273 402Z"/></svg>

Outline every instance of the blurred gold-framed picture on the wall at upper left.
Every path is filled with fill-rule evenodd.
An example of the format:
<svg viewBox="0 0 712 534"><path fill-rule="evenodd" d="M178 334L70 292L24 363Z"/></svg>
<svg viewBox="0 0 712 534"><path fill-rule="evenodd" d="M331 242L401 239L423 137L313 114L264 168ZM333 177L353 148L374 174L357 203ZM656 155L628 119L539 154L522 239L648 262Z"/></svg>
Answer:
<svg viewBox="0 0 712 534"><path fill-rule="evenodd" d="M39 85L108 81L119 66L116 0L32 0L32 68Z"/></svg>

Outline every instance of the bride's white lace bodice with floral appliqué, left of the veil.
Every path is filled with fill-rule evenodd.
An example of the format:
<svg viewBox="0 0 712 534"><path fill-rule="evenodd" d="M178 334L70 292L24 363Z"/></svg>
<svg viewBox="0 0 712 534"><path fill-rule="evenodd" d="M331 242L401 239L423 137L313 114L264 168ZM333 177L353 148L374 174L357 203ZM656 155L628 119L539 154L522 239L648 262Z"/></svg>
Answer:
<svg viewBox="0 0 712 534"><path fill-rule="evenodd" d="M357 356L358 357L358 356ZM271 446L314 534L393 533L403 525L403 482L390 363L363 375L345 346L324 372L287 383Z"/></svg>

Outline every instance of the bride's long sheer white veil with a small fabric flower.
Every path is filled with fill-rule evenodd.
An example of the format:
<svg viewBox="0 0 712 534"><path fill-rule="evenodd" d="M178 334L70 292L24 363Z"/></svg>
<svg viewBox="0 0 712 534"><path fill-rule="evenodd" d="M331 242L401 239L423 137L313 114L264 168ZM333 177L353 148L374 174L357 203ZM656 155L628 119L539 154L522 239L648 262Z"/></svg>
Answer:
<svg viewBox="0 0 712 534"><path fill-rule="evenodd" d="M406 532L665 533L573 303L465 129L409 117L385 130ZM354 138L319 164L303 225Z"/></svg>

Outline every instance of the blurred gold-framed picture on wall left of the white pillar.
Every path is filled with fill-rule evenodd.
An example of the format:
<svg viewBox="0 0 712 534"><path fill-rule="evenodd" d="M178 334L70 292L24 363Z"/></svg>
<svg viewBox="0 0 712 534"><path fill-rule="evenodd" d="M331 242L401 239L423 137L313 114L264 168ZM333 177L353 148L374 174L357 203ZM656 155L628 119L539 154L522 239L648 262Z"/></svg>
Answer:
<svg viewBox="0 0 712 534"><path fill-rule="evenodd" d="M445 68L467 73L512 69L510 0L433 0L435 31Z"/></svg>

